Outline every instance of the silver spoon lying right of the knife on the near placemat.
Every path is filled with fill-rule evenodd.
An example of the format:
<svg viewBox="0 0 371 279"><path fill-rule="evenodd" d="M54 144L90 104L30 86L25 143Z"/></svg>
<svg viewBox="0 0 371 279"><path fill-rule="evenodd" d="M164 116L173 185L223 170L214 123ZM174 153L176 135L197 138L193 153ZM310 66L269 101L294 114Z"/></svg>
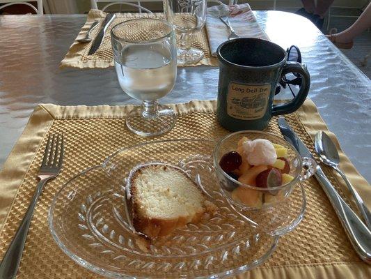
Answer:
<svg viewBox="0 0 371 279"><path fill-rule="evenodd" d="M371 229L371 213L365 206L361 196L358 195L352 184L347 179L347 176L345 176L344 172L342 172L342 170L339 168L340 158L338 150L336 149L336 146L331 138L324 133L324 131L317 132L315 135L315 151L320 157L322 163L335 169L336 172L340 174L342 179L344 179L350 193L352 193L354 199L356 200L356 204L358 209L361 211L361 215L363 216L366 225L369 229Z"/></svg>

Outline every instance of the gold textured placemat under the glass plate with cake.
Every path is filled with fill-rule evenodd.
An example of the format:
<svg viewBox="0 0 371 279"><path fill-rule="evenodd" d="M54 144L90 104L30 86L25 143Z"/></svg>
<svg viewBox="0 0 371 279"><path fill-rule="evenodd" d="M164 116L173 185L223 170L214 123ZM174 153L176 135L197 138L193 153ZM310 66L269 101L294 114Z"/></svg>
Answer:
<svg viewBox="0 0 371 279"><path fill-rule="evenodd" d="M192 101L171 106L178 114L175 128L155 140L218 138L228 133L216 123L216 101ZM74 263L54 243L47 225L47 211L57 190L74 174L102 163L106 156L123 146L148 141L130 133L125 127L125 115L132 108L132 105L39 105L35 108L0 172L0 258L13 238L35 190L36 174L49 133L64 133L65 160L61 174L45 186L36 206L18 278L100 278ZM328 131L310 100L306 100L296 113L287 115L286 119L311 151L314 133L317 130ZM276 118L272 119L267 130L281 135ZM336 140L333 134L331 137ZM370 185L356 172L342 151L340 160L340 167L371 206ZM349 202L344 183L331 169L324 167L324 172L340 195ZM322 188L314 178L305 184L308 204L299 227L280 239L278 248L267 262L238 278L371 278L371 267L361 262L352 249Z"/></svg>

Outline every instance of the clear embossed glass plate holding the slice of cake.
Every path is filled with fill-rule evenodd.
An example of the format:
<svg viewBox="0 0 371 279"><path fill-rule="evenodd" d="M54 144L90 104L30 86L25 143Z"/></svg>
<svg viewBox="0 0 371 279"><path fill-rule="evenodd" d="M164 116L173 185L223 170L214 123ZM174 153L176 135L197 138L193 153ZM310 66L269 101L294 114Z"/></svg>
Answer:
<svg viewBox="0 0 371 279"><path fill-rule="evenodd" d="M112 278L221 278L261 264L276 248L278 236L235 211L223 197L212 167L214 145L212 140L139 144L77 174L58 191L50 207L54 240L81 266ZM127 224L125 181L133 167L148 162L182 167L219 211L210 220L176 229L143 250ZM294 209L294 214L300 210Z"/></svg>

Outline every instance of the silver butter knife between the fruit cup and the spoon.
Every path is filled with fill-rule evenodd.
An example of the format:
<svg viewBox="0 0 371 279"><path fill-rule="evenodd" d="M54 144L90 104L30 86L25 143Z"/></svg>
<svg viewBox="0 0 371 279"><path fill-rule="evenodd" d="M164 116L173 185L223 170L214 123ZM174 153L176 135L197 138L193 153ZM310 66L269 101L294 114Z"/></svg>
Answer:
<svg viewBox="0 0 371 279"><path fill-rule="evenodd" d="M283 137L287 142L290 142L295 149L299 152L302 157L313 158L313 155L310 153L309 149L305 144L300 140L297 134L292 130L292 128L287 124L284 117L278 119L278 126L281 130ZM335 209L338 218L344 227L347 236L352 243L354 250L363 261L368 264L371 264L371 232L368 227L361 221L360 218L354 213L354 211L347 205L347 203L340 197L335 188L331 185L329 179L326 178L326 175L322 171L321 167L317 165L315 172L315 178L322 186L324 193L326 193L329 198L333 209Z"/></svg>

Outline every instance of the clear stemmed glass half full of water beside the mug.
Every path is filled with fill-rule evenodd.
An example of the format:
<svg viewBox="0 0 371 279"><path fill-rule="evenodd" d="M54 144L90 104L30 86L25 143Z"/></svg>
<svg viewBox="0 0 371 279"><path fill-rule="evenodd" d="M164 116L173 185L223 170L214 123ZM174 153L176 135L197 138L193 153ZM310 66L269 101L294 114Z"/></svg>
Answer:
<svg viewBox="0 0 371 279"><path fill-rule="evenodd" d="M157 103L174 85L177 52L173 25L165 20L136 19L111 31L118 82L127 95L143 105L129 112L126 125L134 133L161 135L175 124L173 110Z"/></svg>

